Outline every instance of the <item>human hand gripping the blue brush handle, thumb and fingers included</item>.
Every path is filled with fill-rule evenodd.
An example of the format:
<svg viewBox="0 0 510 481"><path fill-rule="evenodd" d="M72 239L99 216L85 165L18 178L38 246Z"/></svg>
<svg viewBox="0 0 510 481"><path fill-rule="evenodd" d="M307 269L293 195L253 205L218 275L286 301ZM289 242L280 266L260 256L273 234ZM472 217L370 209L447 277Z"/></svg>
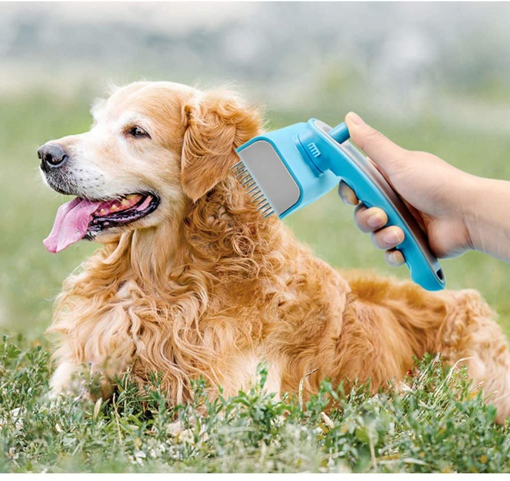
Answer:
<svg viewBox="0 0 510 481"><path fill-rule="evenodd" d="M472 203L470 192L477 177L436 155L399 147L354 112L347 114L345 123L352 142L368 155L423 228L433 254L454 257L473 248L468 225L471 217L466 208ZM339 195L344 202L357 205L356 225L372 233L375 246L386 251L387 263L402 265L403 255L395 249L404 240L401 228L386 226L386 213L376 207L367 209L344 182L340 182Z"/></svg>

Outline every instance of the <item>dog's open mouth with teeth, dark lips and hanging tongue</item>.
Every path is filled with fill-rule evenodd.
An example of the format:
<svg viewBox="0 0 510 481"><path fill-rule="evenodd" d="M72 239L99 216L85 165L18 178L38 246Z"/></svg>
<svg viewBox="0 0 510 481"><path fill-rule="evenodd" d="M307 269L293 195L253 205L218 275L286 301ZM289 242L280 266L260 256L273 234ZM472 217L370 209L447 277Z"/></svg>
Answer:
<svg viewBox="0 0 510 481"><path fill-rule="evenodd" d="M77 197L59 207L52 232L44 239L46 249L60 252L83 238L93 239L98 233L129 224L154 212L159 205L155 194L129 194L110 200Z"/></svg>

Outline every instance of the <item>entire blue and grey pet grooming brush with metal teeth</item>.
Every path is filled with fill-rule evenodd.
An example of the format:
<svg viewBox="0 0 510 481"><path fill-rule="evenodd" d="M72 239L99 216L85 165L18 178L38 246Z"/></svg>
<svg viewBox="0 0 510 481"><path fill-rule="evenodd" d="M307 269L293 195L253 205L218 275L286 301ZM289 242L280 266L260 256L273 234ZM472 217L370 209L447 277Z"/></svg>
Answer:
<svg viewBox="0 0 510 481"><path fill-rule="evenodd" d="M427 290L445 286L443 270L402 199L372 163L350 144L344 123L331 128L317 119L268 132L237 149L235 175L264 216L284 218L343 180L367 207L388 214L388 225L405 234L397 246L411 279Z"/></svg>

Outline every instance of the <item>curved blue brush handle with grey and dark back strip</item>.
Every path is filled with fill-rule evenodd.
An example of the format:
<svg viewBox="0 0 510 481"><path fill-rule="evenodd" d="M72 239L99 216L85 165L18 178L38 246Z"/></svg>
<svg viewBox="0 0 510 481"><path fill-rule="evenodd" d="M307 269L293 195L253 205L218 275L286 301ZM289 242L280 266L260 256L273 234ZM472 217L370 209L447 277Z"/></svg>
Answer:
<svg viewBox="0 0 510 481"><path fill-rule="evenodd" d="M329 169L341 177L367 207L384 210L388 215L387 225L397 225L405 234L397 249L405 258L411 279L427 290L443 289L443 270L431 253L425 234L387 180L367 157L347 142L347 126L342 123L329 130L329 126L316 119L311 119L308 125L314 131L313 138L320 152L312 159L314 165L321 172Z"/></svg>

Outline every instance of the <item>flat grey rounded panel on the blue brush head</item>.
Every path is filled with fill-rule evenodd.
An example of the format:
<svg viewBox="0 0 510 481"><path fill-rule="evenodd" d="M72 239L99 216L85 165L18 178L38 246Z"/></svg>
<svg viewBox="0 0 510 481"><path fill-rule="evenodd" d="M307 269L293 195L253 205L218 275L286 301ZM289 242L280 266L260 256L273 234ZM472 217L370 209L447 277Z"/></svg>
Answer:
<svg viewBox="0 0 510 481"><path fill-rule="evenodd" d="M276 215L283 214L299 200L301 192L296 181L269 142L254 141L238 155L257 185L265 186L262 193Z"/></svg>

